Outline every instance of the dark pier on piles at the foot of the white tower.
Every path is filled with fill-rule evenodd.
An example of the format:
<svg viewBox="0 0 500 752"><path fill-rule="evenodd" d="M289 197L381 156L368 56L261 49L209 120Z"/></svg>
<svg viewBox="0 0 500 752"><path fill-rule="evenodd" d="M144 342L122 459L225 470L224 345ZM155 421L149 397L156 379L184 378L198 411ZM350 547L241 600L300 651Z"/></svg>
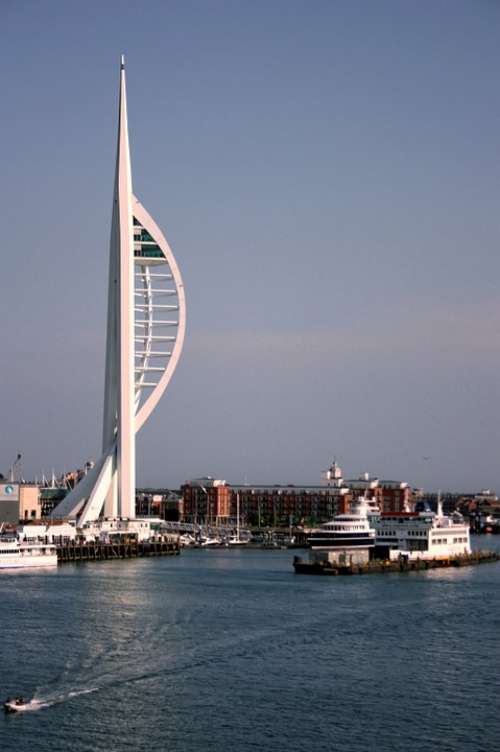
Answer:
<svg viewBox="0 0 500 752"><path fill-rule="evenodd" d="M60 563L135 559L140 556L176 556L178 554L180 554L178 541L165 540L117 540L109 543L70 541L57 546L57 560Z"/></svg>

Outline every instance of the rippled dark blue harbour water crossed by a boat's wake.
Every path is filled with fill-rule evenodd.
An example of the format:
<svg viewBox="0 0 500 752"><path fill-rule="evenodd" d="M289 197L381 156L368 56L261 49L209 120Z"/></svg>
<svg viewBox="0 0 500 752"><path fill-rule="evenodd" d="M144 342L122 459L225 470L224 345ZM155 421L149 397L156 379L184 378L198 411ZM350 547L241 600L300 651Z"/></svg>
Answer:
<svg viewBox="0 0 500 752"><path fill-rule="evenodd" d="M292 554L2 574L0 696L33 700L0 750L499 748L500 564L321 578Z"/></svg>

